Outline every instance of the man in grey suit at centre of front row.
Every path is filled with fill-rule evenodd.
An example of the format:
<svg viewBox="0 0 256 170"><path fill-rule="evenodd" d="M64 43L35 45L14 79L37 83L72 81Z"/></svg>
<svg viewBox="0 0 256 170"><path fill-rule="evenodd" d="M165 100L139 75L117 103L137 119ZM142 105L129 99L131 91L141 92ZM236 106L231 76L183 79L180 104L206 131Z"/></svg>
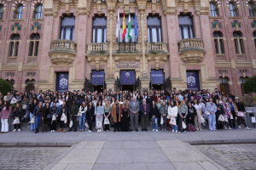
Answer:
<svg viewBox="0 0 256 170"><path fill-rule="evenodd" d="M130 111L130 122L131 122L130 131L133 131L133 129L135 128L135 130L138 132L137 124L138 124L138 111L140 111L140 105L136 101L135 97L132 98L132 101L129 103L128 107Z"/></svg>

